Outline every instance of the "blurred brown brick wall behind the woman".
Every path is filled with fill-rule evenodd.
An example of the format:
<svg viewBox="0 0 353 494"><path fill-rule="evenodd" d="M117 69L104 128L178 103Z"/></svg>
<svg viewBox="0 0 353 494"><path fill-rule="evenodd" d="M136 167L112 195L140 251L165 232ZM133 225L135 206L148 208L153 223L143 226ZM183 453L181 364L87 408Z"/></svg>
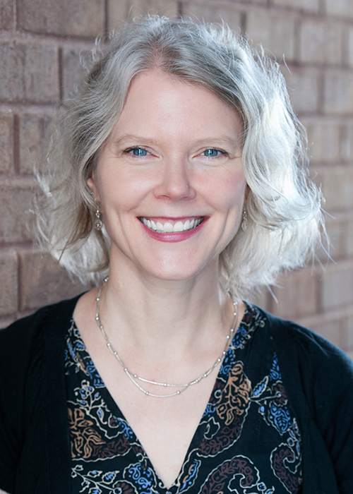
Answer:
<svg viewBox="0 0 353 494"><path fill-rule="evenodd" d="M283 276L257 299L353 356L352 0L0 0L0 326L83 290L32 243L27 224L55 108L97 35L150 11L223 18L277 57L309 131L312 176L327 200L335 263ZM283 56L285 54L285 57Z"/></svg>

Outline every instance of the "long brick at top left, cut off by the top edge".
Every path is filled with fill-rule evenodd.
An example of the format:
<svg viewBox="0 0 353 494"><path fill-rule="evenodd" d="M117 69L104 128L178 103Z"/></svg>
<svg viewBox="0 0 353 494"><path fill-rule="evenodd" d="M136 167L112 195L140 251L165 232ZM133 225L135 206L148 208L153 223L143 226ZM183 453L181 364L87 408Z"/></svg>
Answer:
<svg viewBox="0 0 353 494"><path fill-rule="evenodd" d="M18 25L24 30L95 37L103 22L104 0L18 0Z"/></svg>

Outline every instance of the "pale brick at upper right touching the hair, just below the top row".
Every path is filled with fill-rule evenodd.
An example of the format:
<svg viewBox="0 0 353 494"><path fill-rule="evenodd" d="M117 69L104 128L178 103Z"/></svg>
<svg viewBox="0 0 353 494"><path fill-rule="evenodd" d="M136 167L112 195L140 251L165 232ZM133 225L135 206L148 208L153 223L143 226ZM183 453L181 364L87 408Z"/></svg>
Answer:
<svg viewBox="0 0 353 494"><path fill-rule="evenodd" d="M250 11L246 15L246 32L253 40L253 44L263 44L266 52L270 51L277 59L294 58L294 20L285 14L273 14Z"/></svg>

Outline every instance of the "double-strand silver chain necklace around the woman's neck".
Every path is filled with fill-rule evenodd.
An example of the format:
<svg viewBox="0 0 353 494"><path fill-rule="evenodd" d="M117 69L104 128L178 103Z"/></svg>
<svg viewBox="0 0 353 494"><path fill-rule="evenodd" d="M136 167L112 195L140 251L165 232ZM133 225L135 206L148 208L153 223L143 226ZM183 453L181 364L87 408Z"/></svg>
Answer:
<svg viewBox="0 0 353 494"><path fill-rule="evenodd" d="M186 382L185 384L169 384L168 382L151 381L149 379L141 378L140 375L137 375L137 374L132 373L130 370L128 370L128 368L126 367L126 365L124 364L124 362L121 360L121 358L119 357L119 355L116 352L116 350L114 350L114 347L112 346L112 344L109 342L109 339L107 337L107 334L104 331L104 327L103 327L103 325L101 323L101 320L100 320L100 297L101 297L101 294L102 294L102 289L104 287L104 283L107 282L107 281L108 281L108 277L104 278L104 282L103 282L102 286L100 287L100 289L98 291L98 295L97 295L97 298L96 298L97 308L96 308L96 311L95 311L95 320L97 322L98 327L100 328L100 331L102 332L102 335L104 336L104 339L105 339L105 341L107 343L107 347L109 348L109 350L111 351L111 353L114 355L114 357L116 357L116 359L120 363L121 367L124 368L124 371L125 371L126 375L128 376L128 378L144 394L147 394L148 396L151 396L153 398L170 398L172 396L176 396L177 394L180 394L181 392L185 391L189 386L192 386L194 384L197 384L198 382L200 382L204 378L207 378L208 375L210 375L210 373L213 371L213 369L215 367L217 367L218 364L220 364L220 362L222 361L223 357L226 354L227 347L229 345L229 341L232 340L232 335L234 335L235 326L236 326L236 323L237 323L237 316L238 316L238 302L236 300L234 300L234 297L232 296L232 294L230 293L230 291L228 291L228 293L232 297L233 306L234 306L233 320L232 320L232 326L231 326L231 328L229 330L229 333L228 333L228 335L226 337L226 344L225 344L225 348L222 351L222 354L218 357L218 359L215 361L215 363L213 364L213 366L210 367L208 370L206 370L205 373L201 374L200 377L198 377L196 379L193 379L190 382ZM143 387L140 386L140 384L138 383L138 381L140 381L140 382L146 382L148 384L152 384L152 385L155 385L155 386L179 387L180 389L177 390L176 392L170 393L170 394L154 394L154 393L150 393L147 390L144 390Z"/></svg>

